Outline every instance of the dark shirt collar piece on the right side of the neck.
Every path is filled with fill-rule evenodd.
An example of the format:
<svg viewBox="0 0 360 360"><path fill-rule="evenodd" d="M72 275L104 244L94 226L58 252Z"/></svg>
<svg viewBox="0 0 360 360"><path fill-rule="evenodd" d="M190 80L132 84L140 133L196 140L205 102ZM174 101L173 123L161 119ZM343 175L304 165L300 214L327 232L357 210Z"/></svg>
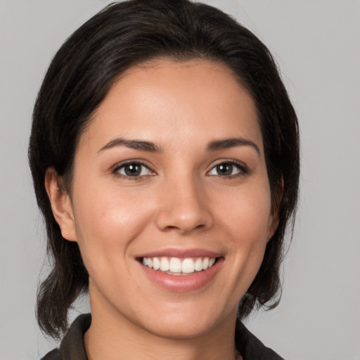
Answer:
<svg viewBox="0 0 360 360"><path fill-rule="evenodd" d="M266 347L240 321L236 321L236 348L244 360L284 360L274 350Z"/></svg>

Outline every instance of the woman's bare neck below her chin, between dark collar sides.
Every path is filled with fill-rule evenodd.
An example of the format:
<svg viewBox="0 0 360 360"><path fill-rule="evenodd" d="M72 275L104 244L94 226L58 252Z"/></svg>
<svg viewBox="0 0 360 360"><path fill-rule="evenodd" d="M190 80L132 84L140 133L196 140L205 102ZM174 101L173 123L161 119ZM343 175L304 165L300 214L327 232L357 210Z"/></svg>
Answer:
<svg viewBox="0 0 360 360"><path fill-rule="evenodd" d="M84 337L89 360L238 360L236 314L191 338L165 338L141 328L115 309L91 303L92 321Z"/></svg>

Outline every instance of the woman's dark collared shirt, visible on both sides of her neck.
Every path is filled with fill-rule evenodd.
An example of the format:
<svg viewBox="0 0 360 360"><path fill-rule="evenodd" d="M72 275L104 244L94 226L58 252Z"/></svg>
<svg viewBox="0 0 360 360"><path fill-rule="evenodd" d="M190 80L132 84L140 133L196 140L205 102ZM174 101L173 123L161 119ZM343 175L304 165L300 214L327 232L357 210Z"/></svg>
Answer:
<svg viewBox="0 0 360 360"><path fill-rule="evenodd" d="M91 314L78 316L60 343L60 347L53 349L41 360L87 360L84 334L90 324ZM241 321L236 321L235 343L243 360L284 360L252 335Z"/></svg>

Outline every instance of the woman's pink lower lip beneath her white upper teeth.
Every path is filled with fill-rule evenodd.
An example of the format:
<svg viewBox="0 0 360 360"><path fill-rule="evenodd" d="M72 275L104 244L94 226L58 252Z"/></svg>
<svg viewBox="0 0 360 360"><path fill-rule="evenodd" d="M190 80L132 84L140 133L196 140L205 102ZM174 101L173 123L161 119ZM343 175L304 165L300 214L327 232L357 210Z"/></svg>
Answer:
<svg viewBox="0 0 360 360"><path fill-rule="evenodd" d="M220 257L210 269L186 275L169 275L162 271L151 269L141 263L139 264L150 281L153 281L156 285L174 293L186 293L203 288L210 283L219 271L223 260Z"/></svg>

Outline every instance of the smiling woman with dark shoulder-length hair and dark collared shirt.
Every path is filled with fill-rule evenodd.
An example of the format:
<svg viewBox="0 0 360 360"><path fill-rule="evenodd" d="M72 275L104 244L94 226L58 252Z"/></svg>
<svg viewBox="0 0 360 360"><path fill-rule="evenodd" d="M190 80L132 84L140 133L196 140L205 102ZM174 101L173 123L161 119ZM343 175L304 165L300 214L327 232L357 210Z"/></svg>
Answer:
<svg viewBox="0 0 360 360"><path fill-rule="evenodd" d="M297 118L266 46L186 0L113 4L56 53L30 167L53 269L44 359L281 359L240 322L275 307Z"/></svg>

